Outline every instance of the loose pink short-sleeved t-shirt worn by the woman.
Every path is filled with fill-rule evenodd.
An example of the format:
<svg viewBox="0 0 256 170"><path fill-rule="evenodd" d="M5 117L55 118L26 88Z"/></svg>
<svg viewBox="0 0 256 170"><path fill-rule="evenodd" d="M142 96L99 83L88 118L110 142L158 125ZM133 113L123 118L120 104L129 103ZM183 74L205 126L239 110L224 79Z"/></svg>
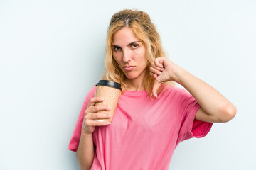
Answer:
<svg viewBox="0 0 256 170"><path fill-rule="evenodd" d="M85 98L68 149L76 152L82 120L92 88ZM168 86L155 101L146 91L125 91L111 125L95 127L92 170L169 169L179 142L204 137L213 123L194 120L200 108L184 89Z"/></svg>

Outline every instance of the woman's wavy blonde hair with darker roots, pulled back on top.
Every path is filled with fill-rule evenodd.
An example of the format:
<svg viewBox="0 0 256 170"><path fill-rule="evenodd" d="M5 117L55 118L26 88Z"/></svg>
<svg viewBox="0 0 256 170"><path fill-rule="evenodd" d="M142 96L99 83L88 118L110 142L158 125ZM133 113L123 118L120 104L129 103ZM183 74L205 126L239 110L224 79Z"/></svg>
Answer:
<svg viewBox="0 0 256 170"><path fill-rule="evenodd" d="M107 45L106 45L106 58L105 58L105 74L102 79L110 81L116 81L121 84L122 89L127 89L127 85L124 84L126 79L124 72L119 68L119 65L112 57L112 41L114 33L122 28L131 28L134 35L142 41L146 47L146 77L144 77L144 88L149 93L150 98L152 97L152 89L154 86L154 78L149 75L149 67L151 63L157 57L166 56L164 49L161 45L161 39L159 33L153 23L151 23L150 17L147 13L137 10L125 9L115 13L111 20L107 30ZM161 91L162 88L159 88Z"/></svg>

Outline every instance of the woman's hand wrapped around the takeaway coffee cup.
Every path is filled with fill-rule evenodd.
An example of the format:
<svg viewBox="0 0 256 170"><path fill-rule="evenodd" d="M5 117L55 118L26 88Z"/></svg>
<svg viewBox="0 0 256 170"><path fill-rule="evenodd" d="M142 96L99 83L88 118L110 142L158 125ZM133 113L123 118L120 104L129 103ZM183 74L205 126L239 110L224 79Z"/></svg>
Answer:
<svg viewBox="0 0 256 170"><path fill-rule="evenodd" d="M95 103L104 101L104 98L92 97L90 103L85 110L85 117L82 122L82 133L91 134L95 130L95 126L110 125L110 122L100 122L95 119L109 119L111 115L108 113L97 113L97 111L110 111L110 107L106 105L97 105Z"/></svg>

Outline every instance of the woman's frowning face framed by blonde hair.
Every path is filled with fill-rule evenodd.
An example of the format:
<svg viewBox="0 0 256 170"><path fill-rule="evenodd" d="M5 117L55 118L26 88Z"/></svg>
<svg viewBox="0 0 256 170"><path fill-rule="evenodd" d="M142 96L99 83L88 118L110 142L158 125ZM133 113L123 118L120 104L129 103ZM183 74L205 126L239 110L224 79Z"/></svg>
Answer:
<svg viewBox="0 0 256 170"><path fill-rule="evenodd" d="M146 48L131 28L122 28L114 33L112 52L114 60L128 79L143 81L147 64Z"/></svg>

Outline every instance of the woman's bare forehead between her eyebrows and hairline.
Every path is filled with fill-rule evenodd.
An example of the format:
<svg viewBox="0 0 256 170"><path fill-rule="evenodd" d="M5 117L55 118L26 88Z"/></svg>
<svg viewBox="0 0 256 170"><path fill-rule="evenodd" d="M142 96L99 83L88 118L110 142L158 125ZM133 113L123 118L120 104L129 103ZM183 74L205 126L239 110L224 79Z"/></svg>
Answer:
<svg viewBox="0 0 256 170"><path fill-rule="evenodd" d="M139 41L131 28L125 27L114 33L112 45L125 46L131 42Z"/></svg>

